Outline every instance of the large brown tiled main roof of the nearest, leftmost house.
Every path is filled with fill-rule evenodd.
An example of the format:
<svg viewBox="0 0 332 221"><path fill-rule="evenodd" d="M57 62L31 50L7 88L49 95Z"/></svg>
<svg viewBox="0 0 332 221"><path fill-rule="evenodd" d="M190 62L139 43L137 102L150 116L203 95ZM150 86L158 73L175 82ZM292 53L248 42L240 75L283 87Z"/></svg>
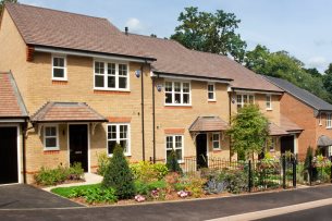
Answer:
<svg viewBox="0 0 332 221"><path fill-rule="evenodd" d="M7 3L27 45L151 58L108 20L20 3Z"/></svg>

